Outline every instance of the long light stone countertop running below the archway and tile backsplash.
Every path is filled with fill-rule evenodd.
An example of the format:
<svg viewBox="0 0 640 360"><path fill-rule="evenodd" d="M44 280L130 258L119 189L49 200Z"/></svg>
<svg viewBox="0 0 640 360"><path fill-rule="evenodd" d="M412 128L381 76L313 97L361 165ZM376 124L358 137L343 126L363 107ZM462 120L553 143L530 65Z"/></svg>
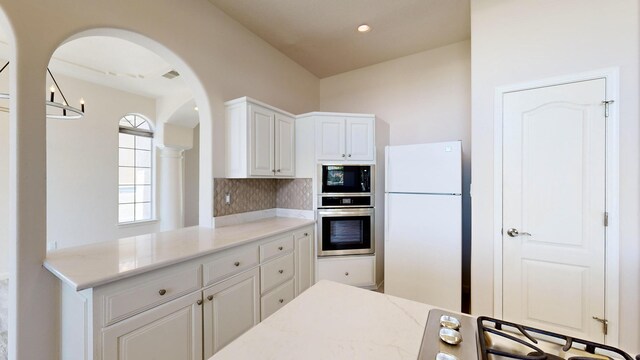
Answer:
<svg viewBox="0 0 640 360"><path fill-rule="evenodd" d="M313 223L274 217L215 229L193 226L53 251L44 267L80 291Z"/></svg>

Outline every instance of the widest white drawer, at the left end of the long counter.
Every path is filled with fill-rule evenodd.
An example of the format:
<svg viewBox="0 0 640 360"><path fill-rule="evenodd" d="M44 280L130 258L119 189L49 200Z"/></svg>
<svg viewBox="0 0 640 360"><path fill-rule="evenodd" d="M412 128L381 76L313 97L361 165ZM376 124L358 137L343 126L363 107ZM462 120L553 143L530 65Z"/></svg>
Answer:
<svg viewBox="0 0 640 360"><path fill-rule="evenodd" d="M104 325L200 289L199 266L118 283L104 296Z"/></svg>

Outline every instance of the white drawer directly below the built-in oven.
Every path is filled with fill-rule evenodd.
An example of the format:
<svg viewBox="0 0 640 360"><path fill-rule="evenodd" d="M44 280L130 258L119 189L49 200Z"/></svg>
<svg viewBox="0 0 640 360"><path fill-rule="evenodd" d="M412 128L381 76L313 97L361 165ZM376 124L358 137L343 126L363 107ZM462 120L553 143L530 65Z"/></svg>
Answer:
<svg viewBox="0 0 640 360"><path fill-rule="evenodd" d="M318 280L332 280L347 285L375 285L375 258L373 256L347 259L321 259L318 261Z"/></svg>

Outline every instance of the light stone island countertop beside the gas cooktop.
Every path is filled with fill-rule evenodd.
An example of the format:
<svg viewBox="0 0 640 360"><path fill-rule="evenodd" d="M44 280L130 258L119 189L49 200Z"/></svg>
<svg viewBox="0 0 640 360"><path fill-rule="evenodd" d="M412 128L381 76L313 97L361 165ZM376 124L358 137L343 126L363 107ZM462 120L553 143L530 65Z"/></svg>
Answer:
<svg viewBox="0 0 640 360"><path fill-rule="evenodd" d="M415 360L430 309L320 281L210 360Z"/></svg>

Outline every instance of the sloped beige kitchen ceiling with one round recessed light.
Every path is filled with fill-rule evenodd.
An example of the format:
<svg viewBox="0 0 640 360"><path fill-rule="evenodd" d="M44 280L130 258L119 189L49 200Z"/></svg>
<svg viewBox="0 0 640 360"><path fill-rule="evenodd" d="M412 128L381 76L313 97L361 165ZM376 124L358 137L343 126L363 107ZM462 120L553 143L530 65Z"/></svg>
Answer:
<svg viewBox="0 0 640 360"><path fill-rule="evenodd" d="M471 36L469 0L209 1L319 78Z"/></svg>

